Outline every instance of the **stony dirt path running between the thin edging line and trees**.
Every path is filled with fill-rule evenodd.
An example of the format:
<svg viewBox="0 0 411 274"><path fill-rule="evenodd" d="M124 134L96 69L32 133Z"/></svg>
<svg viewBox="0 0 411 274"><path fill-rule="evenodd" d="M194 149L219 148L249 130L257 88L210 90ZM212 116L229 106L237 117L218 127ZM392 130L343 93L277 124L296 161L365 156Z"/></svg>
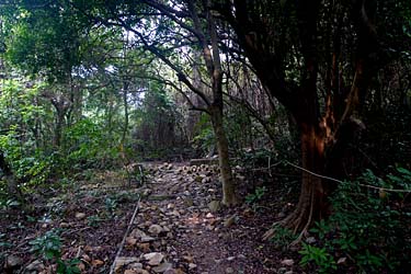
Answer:
<svg viewBox="0 0 411 274"><path fill-rule="evenodd" d="M293 273L298 267L262 242L274 213L224 208L214 165L148 164L139 210L115 273ZM239 176L241 179L241 176Z"/></svg>

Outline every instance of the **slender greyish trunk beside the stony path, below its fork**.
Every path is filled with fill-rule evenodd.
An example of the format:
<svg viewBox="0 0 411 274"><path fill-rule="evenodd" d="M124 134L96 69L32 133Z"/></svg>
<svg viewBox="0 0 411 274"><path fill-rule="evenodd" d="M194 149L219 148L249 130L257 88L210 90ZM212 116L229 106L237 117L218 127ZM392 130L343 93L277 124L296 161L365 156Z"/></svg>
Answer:
<svg viewBox="0 0 411 274"><path fill-rule="evenodd" d="M222 111L219 107L210 107L210 116L217 141L220 180L222 184L222 204L233 206L238 203L238 198L228 155L228 140L222 125Z"/></svg>

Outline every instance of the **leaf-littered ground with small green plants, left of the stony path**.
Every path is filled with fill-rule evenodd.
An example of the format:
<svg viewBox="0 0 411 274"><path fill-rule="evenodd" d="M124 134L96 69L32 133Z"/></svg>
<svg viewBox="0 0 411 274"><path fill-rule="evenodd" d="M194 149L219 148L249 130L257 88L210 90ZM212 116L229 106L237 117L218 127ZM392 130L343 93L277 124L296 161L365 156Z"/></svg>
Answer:
<svg viewBox="0 0 411 274"><path fill-rule="evenodd" d="M0 272L109 272L139 194L124 190L118 172L87 171L83 178L89 181L66 182L65 190L1 208Z"/></svg>

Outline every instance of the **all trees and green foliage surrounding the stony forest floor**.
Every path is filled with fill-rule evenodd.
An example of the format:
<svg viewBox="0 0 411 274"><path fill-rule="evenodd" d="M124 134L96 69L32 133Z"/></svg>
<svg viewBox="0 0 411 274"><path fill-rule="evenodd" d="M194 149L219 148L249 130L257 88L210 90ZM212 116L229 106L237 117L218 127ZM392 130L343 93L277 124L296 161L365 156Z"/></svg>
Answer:
<svg viewBox="0 0 411 274"><path fill-rule="evenodd" d="M253 212L300 180L273 241L313 236L308 270L410 267L410 48L406 0L3 1L0 210L94 171L218 156L227 206L231 165ZM57 231L31 244L78 272Z"/></svg>

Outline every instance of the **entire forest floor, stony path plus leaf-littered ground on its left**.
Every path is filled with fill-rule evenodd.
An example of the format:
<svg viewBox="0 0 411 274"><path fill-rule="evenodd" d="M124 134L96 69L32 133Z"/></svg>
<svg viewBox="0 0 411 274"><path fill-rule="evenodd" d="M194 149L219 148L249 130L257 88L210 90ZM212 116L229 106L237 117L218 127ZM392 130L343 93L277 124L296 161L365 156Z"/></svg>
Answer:
<svg viewBox="0 0 411 274"><path fill-rule="evenodd" d="M214 165L147 163L145 169L142 186L126 185L118 172L90 173L64 194L34 197L24 212L3 212L0 270L55 273L54 260L31 251L34 239L53 231L61 239L61 258L80 259L81 273L112 267L126 274L301 272L295 250L261 240L294 206L292 189L279 180L264 185L252 203L225 208ZM253 193L255 182L240 171L237 179L242 198Z"/></svg>

